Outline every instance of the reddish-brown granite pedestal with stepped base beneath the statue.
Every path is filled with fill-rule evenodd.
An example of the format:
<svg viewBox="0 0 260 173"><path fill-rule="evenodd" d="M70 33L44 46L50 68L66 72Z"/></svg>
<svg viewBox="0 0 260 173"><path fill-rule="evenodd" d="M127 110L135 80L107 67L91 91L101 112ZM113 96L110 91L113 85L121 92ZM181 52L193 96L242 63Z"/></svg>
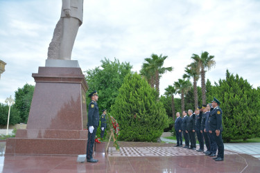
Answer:
<svg viewBox="0 0 260 173"><path fill-rule="evenodd" d="M85 154L88 86L79 67L39 67L27 129L6 140L6 154Z"/></svg>

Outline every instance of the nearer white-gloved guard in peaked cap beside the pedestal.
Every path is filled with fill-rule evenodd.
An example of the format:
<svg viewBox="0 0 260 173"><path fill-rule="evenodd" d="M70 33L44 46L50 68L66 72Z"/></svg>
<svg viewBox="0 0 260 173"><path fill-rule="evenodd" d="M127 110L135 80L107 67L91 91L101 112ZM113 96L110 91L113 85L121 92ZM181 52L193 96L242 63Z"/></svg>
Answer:
<svg viewBox="0 0 260 173"><path fill-rule="evenodd" d="M89 131L87 134L87 162L96 163L98 160L92 158L92 154L96 129L98 128L99 124L98 104L96 103L96 101L98 101L98 93L93 91L89 94L89 97L92 99L92 101L89 103L89 112L87 115L87 128Z"/></svg>

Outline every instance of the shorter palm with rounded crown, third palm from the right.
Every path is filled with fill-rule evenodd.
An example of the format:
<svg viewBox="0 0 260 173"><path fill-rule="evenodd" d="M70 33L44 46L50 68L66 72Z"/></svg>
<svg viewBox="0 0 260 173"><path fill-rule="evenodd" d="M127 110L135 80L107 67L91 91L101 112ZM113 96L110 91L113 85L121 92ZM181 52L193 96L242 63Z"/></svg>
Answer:
<svg viewBox="0 0 260 173"><path fill-rule="evenodd" d="M177 93L181 94L182 98L182 111L184 111L184 95L188 93L191 89L191 82L189 80L178 79L177 82L174 82L174 85L177 89Z"/></svg>

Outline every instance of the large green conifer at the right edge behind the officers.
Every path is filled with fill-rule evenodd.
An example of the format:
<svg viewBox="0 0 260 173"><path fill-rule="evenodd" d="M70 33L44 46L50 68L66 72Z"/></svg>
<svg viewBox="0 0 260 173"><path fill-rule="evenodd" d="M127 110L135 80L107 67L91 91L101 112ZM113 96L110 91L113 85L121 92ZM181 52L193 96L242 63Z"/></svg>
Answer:
<svg viewBox="0 0 260 173"><path fill-rule="evenodd" d="M225 80L211 88L223 110L223 139L254 138L260 135L260 92L239 75L226 72Z"/></svg>

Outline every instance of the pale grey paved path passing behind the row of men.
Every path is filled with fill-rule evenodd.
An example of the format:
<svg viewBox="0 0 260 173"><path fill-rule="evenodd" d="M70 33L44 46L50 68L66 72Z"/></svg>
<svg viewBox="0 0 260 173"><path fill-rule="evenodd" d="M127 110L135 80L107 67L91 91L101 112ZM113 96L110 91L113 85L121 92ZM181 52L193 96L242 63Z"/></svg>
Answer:
<svg viewBox="0 0 260 173"><path fill-rule="evenodd" d="M176 140L171 140L164 137L161 137L161 140L166 143L177 143ZM229 151L248 154L260 160L260 143L224 143L224 147Z"/></svg>

